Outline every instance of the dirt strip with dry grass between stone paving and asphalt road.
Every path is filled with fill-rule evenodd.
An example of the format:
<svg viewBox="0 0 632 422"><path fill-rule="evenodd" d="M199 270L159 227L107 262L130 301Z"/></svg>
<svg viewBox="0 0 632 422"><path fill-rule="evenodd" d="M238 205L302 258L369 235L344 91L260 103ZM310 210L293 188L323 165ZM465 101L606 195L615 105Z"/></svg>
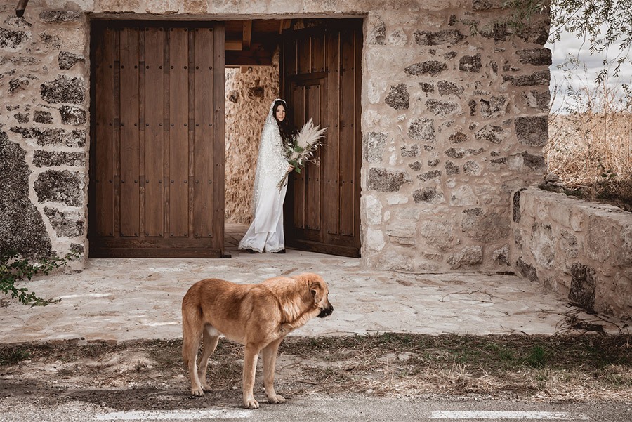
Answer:
<svg viewBox="0 0 632 422"><path fill-rule="evenodd" d="M181 340L0 345L0 398L91 402L119 410L239 406L243 347L211 356L213 390L193 398ZM630 336L412 336L287 338L277 393L632 400ZM256 398L265 400L261 359Z"/></svg>

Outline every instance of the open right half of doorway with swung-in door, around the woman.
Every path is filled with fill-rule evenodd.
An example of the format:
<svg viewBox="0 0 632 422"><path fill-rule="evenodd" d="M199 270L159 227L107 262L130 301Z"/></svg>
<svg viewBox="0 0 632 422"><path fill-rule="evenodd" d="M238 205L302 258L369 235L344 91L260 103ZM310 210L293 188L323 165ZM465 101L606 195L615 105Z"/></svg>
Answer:
<svg viewBox="0 0 632 422"><path fill-rule="evenodd" d="M248 47L249 46L249 47ZM251 222L263 121L284 98L296 128L327 127L321 165L292 173L285 200L292 249L360 256L362 19L226 22L225 247ZM238 48L230 53L230 48ZM232 56L230 55L232 54Z"/></svg>

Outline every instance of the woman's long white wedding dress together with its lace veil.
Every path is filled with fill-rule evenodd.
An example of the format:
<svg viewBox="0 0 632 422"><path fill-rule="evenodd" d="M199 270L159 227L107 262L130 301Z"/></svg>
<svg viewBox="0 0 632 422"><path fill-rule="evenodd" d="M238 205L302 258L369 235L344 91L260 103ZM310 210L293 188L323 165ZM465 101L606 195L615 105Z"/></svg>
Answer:
<svg viewBox="0 0 632 422"><path fill-rule="evenodd" d="M285 176L288 164L283 153L279 125L273 116L272 107L277 100L270 105L261 131L253 192L254 217L246 235L239 242L239 249L266 253L285 249L283 201L287 182L280 190L277 184Z"/></svg>

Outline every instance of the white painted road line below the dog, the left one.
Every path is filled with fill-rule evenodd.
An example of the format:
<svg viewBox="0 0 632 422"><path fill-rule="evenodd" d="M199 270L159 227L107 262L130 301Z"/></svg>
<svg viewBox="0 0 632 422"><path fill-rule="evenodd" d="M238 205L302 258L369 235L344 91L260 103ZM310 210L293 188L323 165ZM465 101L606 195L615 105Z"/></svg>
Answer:
<svg viewBox="0 0 632 422"><path fill-rule="evenodd" d="M169 421L172 419L200 420L213 418L245 419L252 414L248 410L165 410L165 411L115 411L114 413L98 415L98 421Z"/></svg>

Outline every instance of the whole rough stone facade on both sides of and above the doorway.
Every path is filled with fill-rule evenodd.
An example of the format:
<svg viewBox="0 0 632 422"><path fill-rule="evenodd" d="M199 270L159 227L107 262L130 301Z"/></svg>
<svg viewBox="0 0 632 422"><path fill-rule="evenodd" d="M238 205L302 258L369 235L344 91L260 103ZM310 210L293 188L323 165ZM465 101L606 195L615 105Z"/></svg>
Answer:
<svg viewBox="0 0 632 422"><path fill-rule="evenodd" d="M362 17L364 264L508 269L510 194L544 173L551 53L548 16L513 34L502 3L32 0L23 18L4 3L0 246L86 258L91 19Z"/></svg>

